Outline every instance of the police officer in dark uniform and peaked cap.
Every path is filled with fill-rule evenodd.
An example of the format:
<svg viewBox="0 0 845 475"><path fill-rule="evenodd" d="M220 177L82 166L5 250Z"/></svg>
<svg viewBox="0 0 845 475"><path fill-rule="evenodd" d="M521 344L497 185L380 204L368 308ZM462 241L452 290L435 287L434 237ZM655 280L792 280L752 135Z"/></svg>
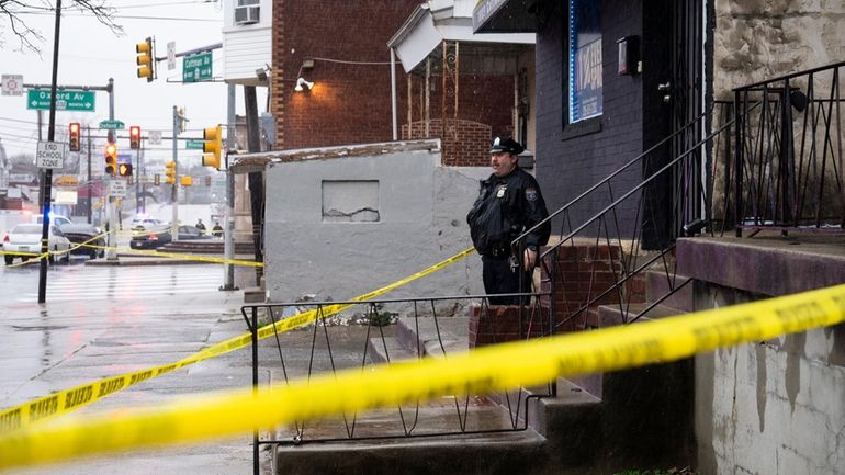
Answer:
<svg viewBox="0 0 845 475"><path fill-rule="evenodd" d="M537 180L517 166L522 150L512 138L493 139L493 174L481 181L478 197L466 215L472 241L482 257L487 295L531 292L538 247L551 234L551 224L545 223L526 237L523 255L512 256L510 242L549 216ZM491 297L489 303L518 305L520 298Z"/></svg>

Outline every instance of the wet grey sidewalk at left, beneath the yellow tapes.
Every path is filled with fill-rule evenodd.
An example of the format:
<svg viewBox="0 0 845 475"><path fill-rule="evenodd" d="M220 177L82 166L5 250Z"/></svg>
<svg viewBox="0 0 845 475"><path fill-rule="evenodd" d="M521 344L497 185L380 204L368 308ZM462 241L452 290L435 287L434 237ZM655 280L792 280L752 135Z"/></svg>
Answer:
<svg viewBox="0 0 845 475"><path fill-rule="evenodd" d="M131 265L144 258L121 258ZM94 262L97 262L95 260ZM153 259L172 264L171 260ZM192 262L196 263L196 262ZM150 263L147 263L150 264ZM255 276L240 268L241 289ZM158 301L48 302L14 304L0 323L0 407L9 408L52 392L103 377L168 364L210 344L247 332L240 313L244 292L202 292ZM84 417L115 408L150 407L191 395L249 387L249 347L164 374L83 407ZM267 375L261 376L267 381ZM252 471L252 437L245 433L194 446L165 448L8 474L243 475ZM262 460L268 460L263 457ZM269 473L269 463L266 473Z"/></svg>

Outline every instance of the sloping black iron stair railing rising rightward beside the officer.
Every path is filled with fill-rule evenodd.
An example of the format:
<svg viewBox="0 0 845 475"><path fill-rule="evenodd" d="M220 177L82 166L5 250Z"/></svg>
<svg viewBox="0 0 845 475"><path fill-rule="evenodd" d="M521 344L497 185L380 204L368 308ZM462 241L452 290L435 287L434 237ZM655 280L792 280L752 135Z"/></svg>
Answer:
<svg viewBox="0 0 845 475"><path fill-rule="evenodd" d="M730 180L710 157L724 155L730 161L733 123L732 104L718 102L552 213L549 219L561 240L541 253L540 262L548 292L543 305L555 316L559 331L633 321L686 285L688 280L677 279L675 239L723 233L730 188L719 188L724 191L717 200L713 190L717 181ZM690 136L674 156L679 138ZM630 173L644 178L632 180ZM514 240L517 256L532 230ZM664 293L647 304L645 270L661 272L665 280ZM601 323L600 305L618 309L612 323Z"/></svg>

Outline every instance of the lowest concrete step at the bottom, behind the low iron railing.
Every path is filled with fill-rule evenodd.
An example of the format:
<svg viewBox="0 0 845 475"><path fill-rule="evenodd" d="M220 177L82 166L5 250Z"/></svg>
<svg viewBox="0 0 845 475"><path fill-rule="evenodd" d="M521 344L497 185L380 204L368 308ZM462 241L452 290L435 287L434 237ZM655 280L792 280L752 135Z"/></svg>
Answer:
<svg viewBox="0 0 845 475"><path fill-rule="evenodd" d="M277 445L273 451L273 473L284 475L312 474L512 474L548 473L549 456L545 439L533 430L494 433L464 433L432 436L452 430L458 418L454 405L449 408L426 408L418 417L419 423L412 434L404 437L405 429L376 411L356 420L356 437L383 437L394 439L343 440L319 443ZM381 414L381 417L380 417ZM491 406L477 415L475 421L467 418L467 430L484 430L489 421L500 419L502 408ZM413 425L415 412L405 410L406 428ZM476 423L481 421L482 423ZM337 421L336 421L337 422ZM340 421L342 423L342 421ZM351 422L351 418L347 418ZM446 423L450 422L449 426ZM324 422L320 422L323 425ZM439 426L438 426L439 425ZM348 423L342 423L341 438ZM306 426L303 441L319 427ZM325 433L325 432L324 432ZM337 436L337 432L333 434ZM333 434L326 433L331 437Z"/></svg>

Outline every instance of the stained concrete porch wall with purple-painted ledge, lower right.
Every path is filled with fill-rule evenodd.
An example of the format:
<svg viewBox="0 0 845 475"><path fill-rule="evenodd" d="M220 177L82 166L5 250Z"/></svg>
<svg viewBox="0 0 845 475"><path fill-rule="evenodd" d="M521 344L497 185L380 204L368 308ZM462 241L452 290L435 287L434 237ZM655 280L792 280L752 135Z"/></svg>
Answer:
<svg viewBox="0 0 845 475"><path fill-rule="evenodd" d="M827 240L829 244L824 244ZM845 282L841 238L679 239L708 309ZM702 474L845 474L845 325L698 354Z"/></svg>

